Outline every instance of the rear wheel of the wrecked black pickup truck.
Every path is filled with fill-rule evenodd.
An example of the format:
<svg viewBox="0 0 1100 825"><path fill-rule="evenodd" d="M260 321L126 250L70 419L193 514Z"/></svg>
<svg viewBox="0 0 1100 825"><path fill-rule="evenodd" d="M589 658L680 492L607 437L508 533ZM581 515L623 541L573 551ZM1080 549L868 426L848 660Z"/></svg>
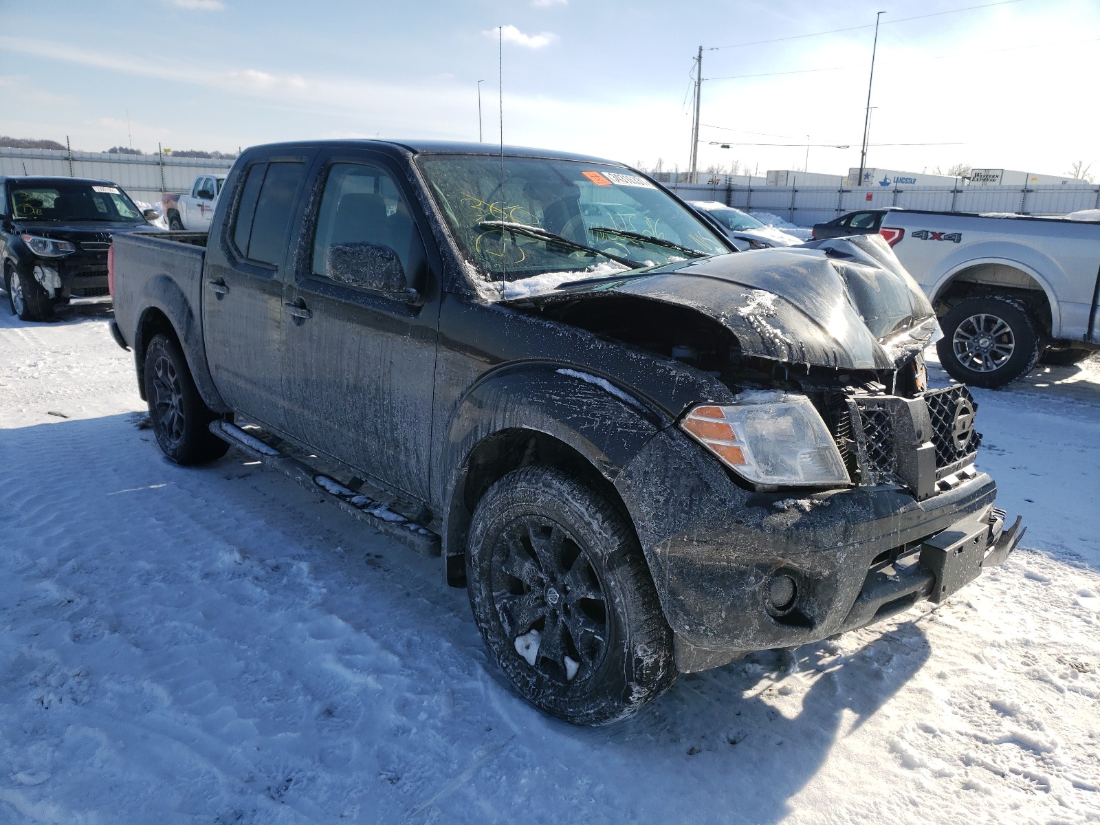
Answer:
<svg viewBox="0 0 1100 825"><path fill-rule="evenodd" d="M210 432L218 416L206 406L179 344L153 336L145 349L145 398L161 451L177 464L205 464L220 459L229 444Z"/></svg>

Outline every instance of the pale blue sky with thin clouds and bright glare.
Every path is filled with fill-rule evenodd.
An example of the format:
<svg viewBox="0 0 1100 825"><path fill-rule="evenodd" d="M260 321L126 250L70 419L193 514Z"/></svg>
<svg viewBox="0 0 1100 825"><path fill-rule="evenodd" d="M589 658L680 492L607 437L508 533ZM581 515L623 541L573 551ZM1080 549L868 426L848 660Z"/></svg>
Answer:
<svg viewBox="0 0 1100 825"><path fill-rule="evenodd" d="M1100 177L1100 0L0 0L0 133L496 142L503 109L508 144L683 170L702 46L701 170L840 175L879 11L868 167Z"/></svg>

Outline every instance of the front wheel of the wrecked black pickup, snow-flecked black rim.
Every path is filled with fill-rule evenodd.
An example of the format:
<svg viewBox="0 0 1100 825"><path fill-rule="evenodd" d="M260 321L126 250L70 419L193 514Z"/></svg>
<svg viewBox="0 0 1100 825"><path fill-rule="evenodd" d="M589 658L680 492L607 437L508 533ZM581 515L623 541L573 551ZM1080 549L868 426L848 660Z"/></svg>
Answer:
<svg viewBox="0 0 1100 825"><path fill-rule="evenodd" d="M496 482L470 527L474 619L524 698L574 725L629 716L675 681L672 631L634 530L562 471Z"/></svg>

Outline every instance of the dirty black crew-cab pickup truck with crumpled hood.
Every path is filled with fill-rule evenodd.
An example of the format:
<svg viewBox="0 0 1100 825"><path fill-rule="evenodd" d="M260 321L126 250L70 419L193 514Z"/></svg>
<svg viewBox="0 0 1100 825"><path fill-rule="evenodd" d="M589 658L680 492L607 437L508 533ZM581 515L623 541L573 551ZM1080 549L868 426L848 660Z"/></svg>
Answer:
<svg viewBox="0 0 1100 825"><path fill-rule="evenodd" d="M112 267L169 459L232 444L439 554L573 723L942 601L1022 535L879 238L732 254L608 161L327 141L245 151L209 238Z"/></svg>

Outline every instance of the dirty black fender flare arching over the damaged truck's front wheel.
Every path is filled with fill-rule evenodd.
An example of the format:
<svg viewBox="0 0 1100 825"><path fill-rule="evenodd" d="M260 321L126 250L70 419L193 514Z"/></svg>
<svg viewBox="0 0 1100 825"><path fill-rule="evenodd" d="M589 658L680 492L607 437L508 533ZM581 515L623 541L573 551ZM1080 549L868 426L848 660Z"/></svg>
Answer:
<svg viewBox="0 0 1100 825"><path fill-rule="evenodd" d="M672 421L612 382L557 363L509 365L474 384L448 422L443 559L465 552L471 457L507 430L549 436L580 453L610 484L647 441Z"/></svg>

